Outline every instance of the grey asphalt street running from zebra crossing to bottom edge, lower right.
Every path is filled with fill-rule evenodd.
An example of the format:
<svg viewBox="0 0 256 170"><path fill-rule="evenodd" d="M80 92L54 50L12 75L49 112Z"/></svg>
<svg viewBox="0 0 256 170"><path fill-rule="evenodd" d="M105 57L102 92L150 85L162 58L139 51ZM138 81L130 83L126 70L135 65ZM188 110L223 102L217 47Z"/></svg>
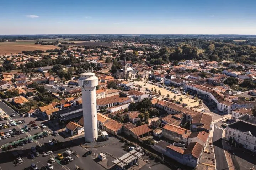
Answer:
<svg viewBox="0 0 256 170"><path fill-rule="evenodd" d="M218 123L214 124L213 131L213 149L216 158L216 169L218 170L228 170L228 163L226 162L225 153L222 146L222 127L217 126ZM219 128L218 128L219 127Z"/></svg>

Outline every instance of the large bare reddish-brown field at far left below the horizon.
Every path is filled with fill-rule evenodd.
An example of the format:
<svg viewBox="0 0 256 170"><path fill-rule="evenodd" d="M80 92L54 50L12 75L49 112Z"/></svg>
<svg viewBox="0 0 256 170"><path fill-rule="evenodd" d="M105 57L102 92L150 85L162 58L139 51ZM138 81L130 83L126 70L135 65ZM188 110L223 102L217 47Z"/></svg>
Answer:
<svg viewBox="0 0 256 170"><path fill-rule="evenodd" d="M32 42L31 42L32 41ZM22 51L34 51L34 50L50 50L59 48L54 45L36 45L34 40L29 41L17 41L17 42L1 42L0 43L0 55L4 54L17 54Z"/></svg>

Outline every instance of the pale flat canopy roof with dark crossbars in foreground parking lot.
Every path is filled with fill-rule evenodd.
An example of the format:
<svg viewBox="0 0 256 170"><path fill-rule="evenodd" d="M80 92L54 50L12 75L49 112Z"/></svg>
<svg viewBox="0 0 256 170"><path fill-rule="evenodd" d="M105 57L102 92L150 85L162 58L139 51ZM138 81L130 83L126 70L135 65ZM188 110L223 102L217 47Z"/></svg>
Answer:
<svg viewBox="0 0 256 170"><path fill-rule="evenodd" d="M133 162L134 160L140 158L144 153L141 153L137 151L136 149L133 149L132 151L124 154L122 157L114 159L112 162L119 166L120 168L124 168L129 163Z"/></svg>

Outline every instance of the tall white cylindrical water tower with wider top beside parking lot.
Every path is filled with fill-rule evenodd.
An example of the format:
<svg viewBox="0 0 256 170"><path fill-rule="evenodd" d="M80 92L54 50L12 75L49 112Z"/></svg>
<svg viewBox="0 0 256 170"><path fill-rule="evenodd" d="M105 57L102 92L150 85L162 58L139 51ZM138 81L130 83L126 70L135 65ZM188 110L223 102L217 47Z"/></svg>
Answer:
<svg viewBox="0 0 256 170"><path fill-rule="evenodd" d="M82 73L78 85L82 88L85 141L94 142L98 138L96 104L98 78L91 72Z"/></svg>

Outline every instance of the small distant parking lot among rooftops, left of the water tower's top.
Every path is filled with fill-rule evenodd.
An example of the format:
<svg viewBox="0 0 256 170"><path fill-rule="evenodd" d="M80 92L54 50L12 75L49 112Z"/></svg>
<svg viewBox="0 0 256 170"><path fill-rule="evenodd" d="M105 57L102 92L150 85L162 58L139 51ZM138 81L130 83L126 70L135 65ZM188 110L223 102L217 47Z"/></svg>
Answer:
<svg viewBox="0 0 256 170"><path fill-rule="evenodd" d="M45 85L44 87L46 88L46 90L49 90L48 92L52 92L52 93L68 92L70 90L75 90L79 88L79 86L65 85L65 84Z"/></svg>

